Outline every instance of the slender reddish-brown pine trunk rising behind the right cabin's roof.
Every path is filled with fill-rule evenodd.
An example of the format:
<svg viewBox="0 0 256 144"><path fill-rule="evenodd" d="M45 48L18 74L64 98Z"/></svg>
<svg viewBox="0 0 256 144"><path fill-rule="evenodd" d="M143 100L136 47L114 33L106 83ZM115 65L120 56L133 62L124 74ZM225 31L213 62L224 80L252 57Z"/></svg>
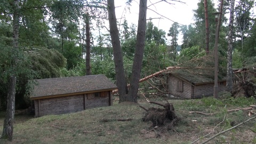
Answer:
<svg viewBox="0 0 256 144"><path fill-rule="evenodd" d="M206 31L206 37L205 37L205 51L206 54L209 53L209 16L208 16L208 6L207 6L207 0L204 0L204 14L205 14L205 31Z"/></svg>

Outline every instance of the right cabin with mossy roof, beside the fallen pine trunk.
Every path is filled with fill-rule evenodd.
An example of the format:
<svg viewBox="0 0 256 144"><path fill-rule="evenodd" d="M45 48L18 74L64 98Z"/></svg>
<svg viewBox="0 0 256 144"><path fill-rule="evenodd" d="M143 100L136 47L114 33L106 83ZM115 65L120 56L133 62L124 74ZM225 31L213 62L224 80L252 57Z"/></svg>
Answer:
<svg viewBox="0 0 256 144"><path fill-rule="evenodd" d="M178 69L167 74L166 89L170 95L184 99L197 99L213 95L214 73ZM226 78L218 78L218 91L226 90Z"/></svg>

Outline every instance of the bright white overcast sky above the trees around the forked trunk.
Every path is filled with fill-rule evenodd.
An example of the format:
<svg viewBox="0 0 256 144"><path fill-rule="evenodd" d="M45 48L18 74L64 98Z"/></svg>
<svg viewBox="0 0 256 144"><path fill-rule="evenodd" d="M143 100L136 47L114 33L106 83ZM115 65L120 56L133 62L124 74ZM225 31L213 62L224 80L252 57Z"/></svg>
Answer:
<svg viewBox="0 0 256 144"><path fill-rule="evenodd" d="M134 2L132 2L132 5L130 6L130 12L125 5L125 2L126 0L115 1L117 19L121 18L123 14L123 18L125 18L129 23L134 23L135 25L138 25L139 0L135 0ZM156 2L159 1L148 0L148 6ZM198 0L181 0L181 2L184 3L174 1L167 2L172 3L172 5L166 2L159 2L148 7L151 10L147 10L147 19L161 18L152 20L156 27L158 27L159 29L163 29L167 34L170 27L172 26L173 21L178 22L182 25L189 25L190 23L193 23L193 10L197 8ZM125 11L125 9L127 11ZM156 12L166 18L162 17ZM118 19L118 21L120 20L122 20L121 23L123 23L124 19Z"/></svg>

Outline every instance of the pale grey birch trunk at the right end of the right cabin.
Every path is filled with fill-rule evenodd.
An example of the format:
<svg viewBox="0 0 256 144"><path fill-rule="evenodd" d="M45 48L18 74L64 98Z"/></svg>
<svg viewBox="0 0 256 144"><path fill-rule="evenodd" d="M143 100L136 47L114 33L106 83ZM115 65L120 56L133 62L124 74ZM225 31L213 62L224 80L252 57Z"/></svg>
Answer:
<svg viewBox="0 0 256 144"><path fill-rule="evenodd" d="M229 30L228 30L228 55L227 55L227 91L232 91L232 52L233 52L233 25L234 25L234 8L235 0L230 1L230 17L229 17Z"/></svg>

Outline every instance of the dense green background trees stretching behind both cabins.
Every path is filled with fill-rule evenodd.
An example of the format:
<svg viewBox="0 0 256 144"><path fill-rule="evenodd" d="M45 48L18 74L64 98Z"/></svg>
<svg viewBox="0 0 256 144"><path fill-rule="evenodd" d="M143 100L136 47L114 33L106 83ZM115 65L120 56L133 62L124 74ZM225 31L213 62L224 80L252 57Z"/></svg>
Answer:
<svg viewBox="0 0 256 144"><path fill-rule="evenodd" d="M218 11L212 1L207 1L209 12L210 52L215 41L215 15ZM224 1L223 16L229 13L229 1ZM90 23L91 74L105 74L115 82L113 49L108 30L106 1L93 0L20 0L19 1L19 51L17 67L11 67L12 56L12 3L0 2L0 108L6 108L7 86L10 74L17 75L17 108L29 105L29 79L82 76L86 74L86 22ZM235 6L233 68L255 66L256 23L252 9L254 0L241 0ZM150 17L150 15L149 15ZM142 60L141 77L195 57L205 55L204 1L198 1L194 10L194 23L188 26L178 22L164 31L150 20L146 27L146 44ZM92 33L94 31L94 33ZM95 32L97 31L97 32ZM122 55L127 82L132 73L137 35L137 25L122 18L119 23ZM177 53L178 35L182 35L181 52ZM222 17L219 35L220 67L227 67L228 19ZM256 66L255 66L256 67Z"/></svg>

